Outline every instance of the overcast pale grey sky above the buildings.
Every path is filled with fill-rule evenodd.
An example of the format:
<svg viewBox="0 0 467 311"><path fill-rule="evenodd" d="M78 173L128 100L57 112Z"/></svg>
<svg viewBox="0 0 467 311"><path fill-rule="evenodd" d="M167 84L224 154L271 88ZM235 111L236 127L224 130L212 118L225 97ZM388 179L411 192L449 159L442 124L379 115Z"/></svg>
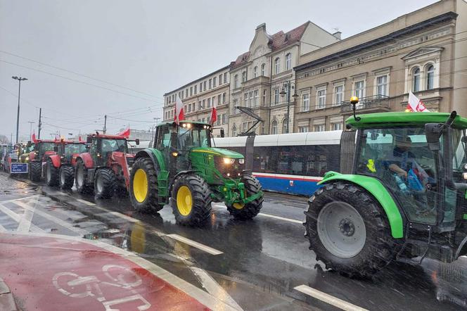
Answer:
<svg viewBox="0 0 467 311"><path fill-rule="evenodd" d="M103 114L113 116L109 133L128 124L148 129L162 116L166 91L248 51L261 23L273 34L311 20L345 38L434 2L0 0L0 134L15 139L13 75L29 79L21 85L20 136L29 136L27 121L37 127L36 107L44 138L101 129Z"/></svg>

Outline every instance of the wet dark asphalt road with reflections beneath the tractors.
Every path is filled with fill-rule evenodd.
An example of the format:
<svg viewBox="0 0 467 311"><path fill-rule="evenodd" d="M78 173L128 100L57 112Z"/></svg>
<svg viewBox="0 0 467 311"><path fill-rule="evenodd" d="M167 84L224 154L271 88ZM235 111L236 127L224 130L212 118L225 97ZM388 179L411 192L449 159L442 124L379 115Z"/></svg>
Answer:
<svg viewBox="0 0 467 311"><path fill-rule="evenodd" d="M139 253L203 288L203 280L191 269L198 267L210 274L244 310L338 310L294 289L300 285L368 310L466 307L467 258L452 265L433 260L424 260L421 265L393 262L372 280L347 279L325 271L303 237L300 222L307 207L304 197L267 193L262 215L242 222L233 220L224 205L215 203L210 224L190 228L175 223L169 206L158 214L144 215L134 212L127 198L95 201L93 196L25 184L3 174L0 189L0 225L6 231L15 231L18 223L5 208L20 214L21 207L13 200L40 194L34 198L38 207L31 231L101 239ZM63 203L51 200L41 191ZM71 201L80 204L81 210L69 205ZM118 217L119 213L132 218ZM167 234L177 234L222 253L209 253Z"/></svg>

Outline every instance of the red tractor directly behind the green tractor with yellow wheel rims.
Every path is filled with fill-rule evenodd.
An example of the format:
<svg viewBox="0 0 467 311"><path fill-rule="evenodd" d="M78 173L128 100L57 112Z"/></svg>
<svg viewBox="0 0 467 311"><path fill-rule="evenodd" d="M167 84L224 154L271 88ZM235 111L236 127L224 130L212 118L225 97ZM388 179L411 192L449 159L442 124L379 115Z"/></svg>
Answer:
<svg viewBox="0 0 467 311"><path fill-rule="evenodd" d="M139 139L136 139L139 145ZM87 137L87 152L76 157L75 180L79 193L94 190L98 198L127 194L129 167L134 154L128 153L128 139L120 135L91 134Z"/></svg>

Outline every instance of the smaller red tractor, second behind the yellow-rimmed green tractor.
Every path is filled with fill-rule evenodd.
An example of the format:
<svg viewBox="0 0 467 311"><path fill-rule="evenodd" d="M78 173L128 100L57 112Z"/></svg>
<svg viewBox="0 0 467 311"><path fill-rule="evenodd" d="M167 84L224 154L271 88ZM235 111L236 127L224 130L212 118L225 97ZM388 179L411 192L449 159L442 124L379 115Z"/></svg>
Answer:
<svg viewBox="0 0 467 311"><path fill-rule="evenodd" d="M86 152L84 141L60 139L53 147L56 154L46 158L45 178L49 186L71 189L75 184L75 162L80 153Z"/></svg>

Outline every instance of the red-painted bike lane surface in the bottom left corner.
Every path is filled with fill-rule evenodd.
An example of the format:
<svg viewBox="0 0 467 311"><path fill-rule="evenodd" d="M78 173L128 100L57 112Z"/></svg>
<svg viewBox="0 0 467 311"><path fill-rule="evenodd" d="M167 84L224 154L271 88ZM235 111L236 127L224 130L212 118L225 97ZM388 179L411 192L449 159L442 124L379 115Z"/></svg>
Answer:
<svg viewBox="0 0 467 311"><path fill-rule="evenodd" d="M210 309L169 272L158 277L125 257L79 239L0 234L0 277L25 311Z"/></svg>

